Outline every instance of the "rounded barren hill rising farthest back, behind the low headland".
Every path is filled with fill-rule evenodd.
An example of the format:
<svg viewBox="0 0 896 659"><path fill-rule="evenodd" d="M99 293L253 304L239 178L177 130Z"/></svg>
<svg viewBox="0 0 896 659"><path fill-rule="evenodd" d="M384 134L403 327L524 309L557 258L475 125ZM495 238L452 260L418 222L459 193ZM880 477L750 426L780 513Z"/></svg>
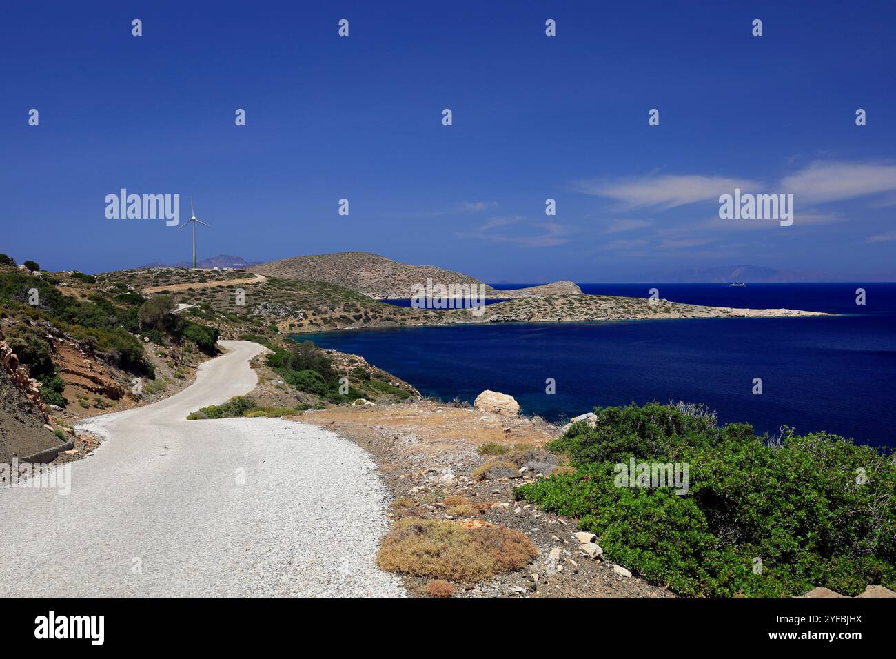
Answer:
<svg viewBox="0 0 896 659"><path fill-rule="evenodd" d="M409 299L414 284L478 285L478 279L433 265L409 265L367 252L338 252L295 256L254 265L250 272L281 279L326 282L356 290L374 299ZM495 290L486 286L489 298L525 298L556 293L581 293L573 282L553 282L527 289Z"/></svg>

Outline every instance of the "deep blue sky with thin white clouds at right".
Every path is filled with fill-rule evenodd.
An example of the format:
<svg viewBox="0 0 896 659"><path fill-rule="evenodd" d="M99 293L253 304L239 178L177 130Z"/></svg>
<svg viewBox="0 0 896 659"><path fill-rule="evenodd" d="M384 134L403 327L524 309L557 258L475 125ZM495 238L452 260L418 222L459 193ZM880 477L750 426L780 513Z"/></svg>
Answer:
<svg viewBox="0 0 896 659"><path fill-rule="evenodd" d="M894 19L892 2L10 4L0 251L85 272L188 259L188 231L106 218L125 187L181 195L184 217L192 196L200 258L896 280ZM793 226L719 220L735 186L794 194Z"/></svg>

